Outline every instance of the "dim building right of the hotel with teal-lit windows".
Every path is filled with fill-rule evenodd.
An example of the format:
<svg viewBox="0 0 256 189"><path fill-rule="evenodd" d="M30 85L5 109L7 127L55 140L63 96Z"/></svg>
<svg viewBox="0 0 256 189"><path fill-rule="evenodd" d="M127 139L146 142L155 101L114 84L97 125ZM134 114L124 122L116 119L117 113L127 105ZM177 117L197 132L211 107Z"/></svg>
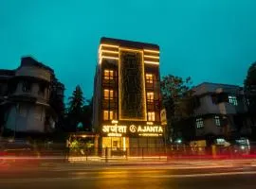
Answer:
<svg viewBox="0 0 256 189"><path fill-rule="evenodd" d="M194 87L197 106L194 109L195 136L249 136L251 123L247 118L247 100L237 85L204 82Z"/></svg>

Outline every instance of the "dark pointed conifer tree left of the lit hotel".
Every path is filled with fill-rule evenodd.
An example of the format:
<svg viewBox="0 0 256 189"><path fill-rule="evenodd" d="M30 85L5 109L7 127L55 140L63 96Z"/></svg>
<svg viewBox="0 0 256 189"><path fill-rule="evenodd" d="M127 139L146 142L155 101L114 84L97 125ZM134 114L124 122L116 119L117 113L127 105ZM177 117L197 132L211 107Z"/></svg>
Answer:
<svg viewBox="0 0 256 189"><path fill-rule="evenodd" d="M79 85L76 86L72 96L68 98L68 108L66 110L66 119L69 124L68 131L76 131L77 125L82 122L82 107L85 98L82 94L82 89Z"/></svg>

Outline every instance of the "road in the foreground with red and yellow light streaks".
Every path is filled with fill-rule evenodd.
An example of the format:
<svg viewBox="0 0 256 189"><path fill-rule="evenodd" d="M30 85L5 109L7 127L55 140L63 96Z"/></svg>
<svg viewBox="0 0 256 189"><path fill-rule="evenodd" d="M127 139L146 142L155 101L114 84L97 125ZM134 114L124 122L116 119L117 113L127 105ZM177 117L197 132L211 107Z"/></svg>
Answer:
<svg viewBox="0 0 256 189"><path fill-rule="evenodd" d="M255 189L250 164L192 166L174 164L74 165L0 171L3 189Z"/></svg>

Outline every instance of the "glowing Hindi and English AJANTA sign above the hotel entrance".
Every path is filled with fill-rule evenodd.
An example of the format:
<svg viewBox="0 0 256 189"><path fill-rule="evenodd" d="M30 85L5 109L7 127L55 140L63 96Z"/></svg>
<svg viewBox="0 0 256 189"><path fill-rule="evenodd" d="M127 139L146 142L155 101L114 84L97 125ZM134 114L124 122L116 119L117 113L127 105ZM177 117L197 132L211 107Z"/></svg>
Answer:
<svg viewBox="0 0 256 189"><path fill-rule="evenodd" d="M126 134L138 136L162 136L164 129L162 126L119 126L119 125L105 125L102 126L102 132L107 136L123 136Z"/></svg>

